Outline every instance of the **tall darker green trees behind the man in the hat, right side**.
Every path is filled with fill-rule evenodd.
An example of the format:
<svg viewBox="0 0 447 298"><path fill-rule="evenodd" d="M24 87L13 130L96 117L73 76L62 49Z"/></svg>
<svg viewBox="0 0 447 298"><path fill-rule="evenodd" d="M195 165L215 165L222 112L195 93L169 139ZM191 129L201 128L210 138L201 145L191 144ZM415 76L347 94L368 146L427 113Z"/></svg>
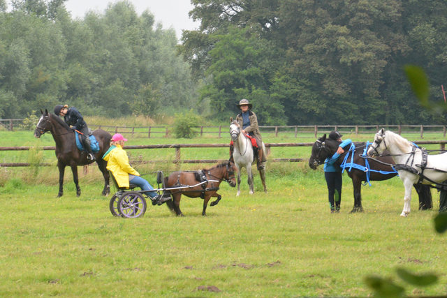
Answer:
<svg viewBox="0 0 447 298"><path fill-rule="evenodd" d="M182 53L201 100L228 119L248 98L266 124L445 124L402 68L416 64L444 102L444 0L192 0Z"/></svg>

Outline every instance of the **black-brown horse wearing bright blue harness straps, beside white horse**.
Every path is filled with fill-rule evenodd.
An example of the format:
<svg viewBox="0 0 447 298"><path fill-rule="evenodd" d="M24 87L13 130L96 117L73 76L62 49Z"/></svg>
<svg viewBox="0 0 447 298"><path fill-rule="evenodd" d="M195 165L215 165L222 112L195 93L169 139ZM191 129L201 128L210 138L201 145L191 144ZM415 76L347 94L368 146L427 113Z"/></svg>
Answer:
<svg viewBox="0 0 447 298"><path fill-rule="evenodd" d="M341 142L331 140L330 138L326 138L324 134L323 137L319 137L318 140L314 143L312 147L312 154L309 158L309 167L312 169L316 169L318 165L324 163L325 159L334 155L339 147ZM351 162L351 155L353 154L353 163L356 165L360 165L361 167L365 167L365 158L362 158L360 154L363 153L365 149L366 143L355 143L356 149L354 152L349 152L349 147L344 148L344 154L339 156L335 165L341 165L346 154L350 154L348 162ZM397 172L394 171L393 167L390 165L394 165L395 162L393 158L390 156L383 156L375 159L368 159L369 163L369 180L370 181L382 181L395 177ZM379 172L376 172L379 171ZM363 211L362 207L362 181L368 181L367 172L365 170L361 170L353 167L350 171L346 168L346 172L348 172L349 177L352 179L352 184L354 188L354 207L351 211ZM391 172L391 173L390 173ZM390 174L386 174L390 173ZM416 192L419 195L419 209L432 209L432 193L430 191L430 186L425 185L414 185Z"/></svg>

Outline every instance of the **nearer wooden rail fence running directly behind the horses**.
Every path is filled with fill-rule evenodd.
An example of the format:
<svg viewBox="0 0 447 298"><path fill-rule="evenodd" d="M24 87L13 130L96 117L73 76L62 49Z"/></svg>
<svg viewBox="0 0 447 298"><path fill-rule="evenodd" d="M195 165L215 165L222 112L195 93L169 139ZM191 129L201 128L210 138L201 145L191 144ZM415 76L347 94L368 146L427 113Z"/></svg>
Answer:
<svg viewBox="0 0 447 298"><path fill-rule="evenodd" d="M444 150L446 147L447 140L441 141L416 141L414 142L418 145L425 144L439 144L439 149ZM267 154L270 154L272 147L312 147L314 143L312 142L302 142L302 143L267 143L265 144ZM140 164L149 163L220 163L224 160L219 159L182 159L181 151L182 148L225 148L230 147L229 144L156 144L156 145L135 145L135 146L124 146L126 150L134 149L175 149L175 159L173 161L138 161ZM35 147L0 147L0 151L26 151L34 149ZM55 150L56 147L45 146L38 147L41 150ZM308 161L309 158L270 158L268 161L273 163L296 163L301 161ZM30 163L0 163L0 167L28 167L31 166ZM54 166L52 163L41 163L39 166Z"/></svg>

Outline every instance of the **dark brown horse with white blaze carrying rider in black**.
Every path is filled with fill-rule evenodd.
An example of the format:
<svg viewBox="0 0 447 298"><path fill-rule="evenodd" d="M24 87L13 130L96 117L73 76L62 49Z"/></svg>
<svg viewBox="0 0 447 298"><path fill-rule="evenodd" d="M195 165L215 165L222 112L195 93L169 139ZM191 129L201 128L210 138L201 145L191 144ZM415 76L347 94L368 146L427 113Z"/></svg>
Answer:
<svg viewBox="0 0 447 298"><path fill-rule="evenodd" d="M41 113L42 117L38 121L36 130L34 131L34 137L41 137L44 133L50 132L54 142L56 142L57 167L59 168L59 193L57 194L57 198L64 194L64 173L67 165L71 167L71 171L73 172L76 195L79 197L81 195L81 188L79 187L78 180L78 165L88 165L89 163L93 163L93 161L87 160L87 152L80 151L80 149L76 147L75 133L64 120L55 114L50 114L48 110L45 110L45 112L41 110ZM108 195L110 193L110 175L106 169L107 163L102 157L110 147L110 139L112 138L112 135L102 129L94 131L93 135L96 137L100 148L94 155L99 170L103 172L104 176L103 195Z"/></svg>

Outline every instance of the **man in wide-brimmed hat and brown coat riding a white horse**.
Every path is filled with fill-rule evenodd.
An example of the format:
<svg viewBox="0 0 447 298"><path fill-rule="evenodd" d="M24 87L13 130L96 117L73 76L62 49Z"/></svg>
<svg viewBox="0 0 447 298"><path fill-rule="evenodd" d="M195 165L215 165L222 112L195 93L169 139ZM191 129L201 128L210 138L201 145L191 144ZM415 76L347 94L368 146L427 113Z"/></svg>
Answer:
<svg viewBox="0 0 447 298"><path fill-rule="evenodd" d="M242 112L237 115L236 121L242 127L242 133L251 135L251 137L256 139L256 143L258 144L258 170L263 170L267 158L265 158L263 151L263 138L259 131L258 117L256 117L254 112L251 112L253 105L247 99L241 99L237 107Z"/></svg>

